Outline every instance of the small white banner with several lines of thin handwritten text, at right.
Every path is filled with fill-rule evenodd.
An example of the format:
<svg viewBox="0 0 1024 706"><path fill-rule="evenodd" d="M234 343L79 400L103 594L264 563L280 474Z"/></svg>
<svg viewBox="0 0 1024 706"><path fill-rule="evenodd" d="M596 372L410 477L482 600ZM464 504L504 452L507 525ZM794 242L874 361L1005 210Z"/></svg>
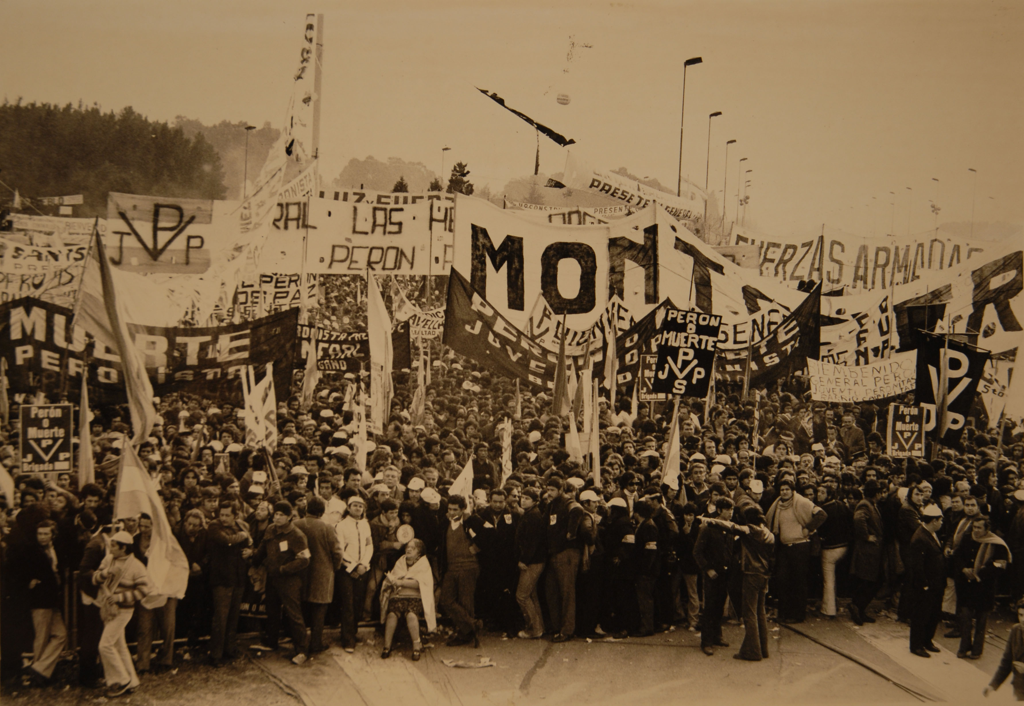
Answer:
<svg viewBox="0 0 1024 706"><path fill-rule="evenodd" d="M881 400L913 390L918 382L918 351L893 354L871 365L833 365L807 360L811 399L820 402Z"/></svg>

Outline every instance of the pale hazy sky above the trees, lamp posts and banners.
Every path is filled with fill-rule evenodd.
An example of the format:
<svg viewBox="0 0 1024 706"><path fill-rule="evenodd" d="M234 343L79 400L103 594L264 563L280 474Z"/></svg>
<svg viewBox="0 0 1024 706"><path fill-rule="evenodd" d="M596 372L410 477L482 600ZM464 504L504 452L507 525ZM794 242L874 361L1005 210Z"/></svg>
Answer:
<svg viewBox="0 0 1024 706"><path fill-rule="evenodd" d="M1009 0L6 0L0 92L280 126L306 11L326 15L328 178L368 155L439 171L445 146L445 169L468 162L471 180L496 193L531 174L532 129L475 85L575 138L570 149L596 168L674 185L682 65L702 56L687 71L683 175L703 185L708 115L722 111L709 188L722 190L725 141L736 139L729 218L746 157L748 217L769 234L826 223L882 236L894 201L899 234L933 226L929 200L939 222L968 221L969 167L976 221L1024 222L1024 9ZM564 157L542 136L542 172L561 171Z"/></svg>

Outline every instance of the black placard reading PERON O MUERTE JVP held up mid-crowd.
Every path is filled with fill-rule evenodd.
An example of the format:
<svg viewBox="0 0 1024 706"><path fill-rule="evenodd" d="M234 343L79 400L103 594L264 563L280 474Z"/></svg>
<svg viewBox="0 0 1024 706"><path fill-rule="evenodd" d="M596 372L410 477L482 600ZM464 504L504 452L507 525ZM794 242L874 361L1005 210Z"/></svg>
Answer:
<svg viewBox="0 0 1024 706"><path fill-rule="evenodd" d="M722 318L670 308L659 329L657 368L651 389L703 398L712 379Z"/></svg>

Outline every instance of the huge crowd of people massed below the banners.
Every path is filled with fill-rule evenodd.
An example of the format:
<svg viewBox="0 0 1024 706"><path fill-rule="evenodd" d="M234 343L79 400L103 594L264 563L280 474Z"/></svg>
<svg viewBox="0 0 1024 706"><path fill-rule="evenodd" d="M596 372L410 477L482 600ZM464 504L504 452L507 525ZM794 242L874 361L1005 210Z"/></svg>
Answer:
<svg viewBox="0 0 1024 706"><path fill-rule="evenodd" d="M1012 422L1002 439L969 426L934 458L893 458L884 404L812 402L800 375L746 400L683 398L678 416L673 401L633 410L622 389L595 412L598 482L566 450L550 392L518 393L430 345L422 423L416 375L395 373L391 415L361 469L355 374L326 373L311 405L282 396L272 454L246 446L236 406L157 401L139 457L189 565L184 597L163 603L145 570L154 518L115 512L127 414L93 411L96 480L79 487L74 472L18 472L13 406L0 449L15 483L0 512L6 673L37 684L74 674L114 697L170 668L175 638L214 665L250 645L301 664L330 647L325 628L347 652L369 649L357 631L368 621L384 633L381 658L408 631L417 660L431 641L473 645L487 632L562 642L674 626L699 632L715 656L733 619L745 632L733 656L761 660L768 619L816 612L860 625L878 600L909 623L914 654L936 649L944 618L970 659L996 597L1024 593L1024 430ZM678 476L666 464L677 418ZM450 493L467 464L472 492ZM55 671L72 619L77 669Z"/></svg>

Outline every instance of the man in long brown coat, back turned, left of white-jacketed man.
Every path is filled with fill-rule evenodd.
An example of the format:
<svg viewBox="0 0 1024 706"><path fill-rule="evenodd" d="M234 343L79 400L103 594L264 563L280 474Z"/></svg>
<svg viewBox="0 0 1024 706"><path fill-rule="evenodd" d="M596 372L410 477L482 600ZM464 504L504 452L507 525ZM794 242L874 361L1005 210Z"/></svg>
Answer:
<svg viewBox="0 0 1024 706"><path fill-rule="evenodd" d="M309 543L309 566L302 570L302 612L309 621L310 655L327 650L324 618L334 598L334 573L341 569L338 533L322 520L326 509L324 499L314 495L306 505L306 516L295 521Z"/></svg>

